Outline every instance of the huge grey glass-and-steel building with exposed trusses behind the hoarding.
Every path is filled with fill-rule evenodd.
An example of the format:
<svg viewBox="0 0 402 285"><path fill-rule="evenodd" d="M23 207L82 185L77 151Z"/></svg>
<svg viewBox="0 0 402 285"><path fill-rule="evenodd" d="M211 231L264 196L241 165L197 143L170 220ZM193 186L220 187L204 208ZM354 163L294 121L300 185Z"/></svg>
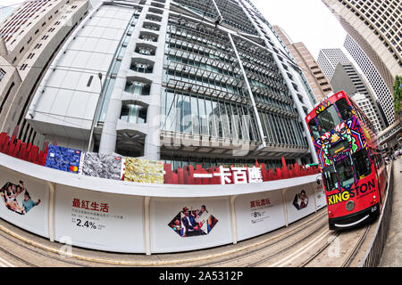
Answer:
<svg viewBox="0 0 402 285"><path fill-rule="evenodd" d="M49 18L39 15L39 27ZM31 66L27 49L27 58L13 55L16 76ZM32 100L21 99L23 119L8 121L9 131L20 126L33 139L31 127L39 145L55 140L173 167L316 161L304 120L314 94L249 1L91 1L54 53L26 92Z"/></svg>

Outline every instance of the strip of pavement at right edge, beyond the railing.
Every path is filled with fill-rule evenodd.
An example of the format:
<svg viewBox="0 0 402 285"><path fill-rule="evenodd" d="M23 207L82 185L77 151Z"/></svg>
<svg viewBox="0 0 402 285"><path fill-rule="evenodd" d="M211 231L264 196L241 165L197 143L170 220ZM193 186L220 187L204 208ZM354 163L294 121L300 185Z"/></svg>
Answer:
<svg viewBox="0 0 402 285"><path fill-rule="evenodd" d="M394 197L387 244L381 256L381 267L402 266L402 157L394 161Z"/></svg>

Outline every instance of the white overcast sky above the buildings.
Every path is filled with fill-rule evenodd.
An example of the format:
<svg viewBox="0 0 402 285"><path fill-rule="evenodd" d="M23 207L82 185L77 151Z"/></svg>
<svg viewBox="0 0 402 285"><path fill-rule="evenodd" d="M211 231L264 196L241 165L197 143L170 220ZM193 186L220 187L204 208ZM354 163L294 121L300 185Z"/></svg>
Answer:
<svg viewBox="0 0 402 285"><path fill-rule="evenodd" d="M314 58L322 48L343 48L346 32L321 0L251 0L272 25L285 30L294 42L303 42ZM23 0L0 0L0 5ZM350 58L350 56L348 55Z"/></svg>

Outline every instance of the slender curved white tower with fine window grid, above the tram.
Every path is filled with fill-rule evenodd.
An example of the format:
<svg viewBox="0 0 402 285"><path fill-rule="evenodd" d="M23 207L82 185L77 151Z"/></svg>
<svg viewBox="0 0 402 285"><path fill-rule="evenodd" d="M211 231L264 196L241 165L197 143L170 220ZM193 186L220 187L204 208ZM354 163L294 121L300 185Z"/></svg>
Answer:
<svg viewBox="0 0 402 285"><path fill-rule="evenodd" d="M381 108L385 113L385 125L392 125L395 122L394 107L392 103L393 98L380 73L361 47L357 45L353 37L348 35L344 46L359 65L360 69L362 69L367 81L372 86L374 94L377 96Z"/></svg>

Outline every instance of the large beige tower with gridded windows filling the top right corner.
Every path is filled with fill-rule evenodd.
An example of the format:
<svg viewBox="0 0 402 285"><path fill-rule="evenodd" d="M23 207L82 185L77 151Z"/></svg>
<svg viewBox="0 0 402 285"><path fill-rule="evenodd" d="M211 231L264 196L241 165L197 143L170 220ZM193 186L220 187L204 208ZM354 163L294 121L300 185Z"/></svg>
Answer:
<svg viewBox="0 0 402 285"><path fill-rule="evenodd" d="M322 0L381 74L389 92L402 74L402 1Z"/></svg>

